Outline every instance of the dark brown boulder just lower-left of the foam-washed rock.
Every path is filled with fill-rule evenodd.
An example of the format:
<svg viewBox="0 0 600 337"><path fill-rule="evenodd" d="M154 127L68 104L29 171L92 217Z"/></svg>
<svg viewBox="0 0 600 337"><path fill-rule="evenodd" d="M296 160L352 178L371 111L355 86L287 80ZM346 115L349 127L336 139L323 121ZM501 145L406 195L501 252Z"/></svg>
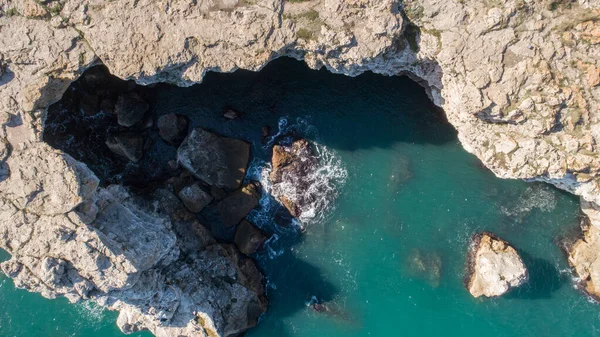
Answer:
<svg viewBox="0 0 600 337"><path fill-rule="evenodd" d="M252 182L244 185L239 190L233 191L225 199L219 201L217 206L225 227L237 225L259 205L260 185Z"/></svg>

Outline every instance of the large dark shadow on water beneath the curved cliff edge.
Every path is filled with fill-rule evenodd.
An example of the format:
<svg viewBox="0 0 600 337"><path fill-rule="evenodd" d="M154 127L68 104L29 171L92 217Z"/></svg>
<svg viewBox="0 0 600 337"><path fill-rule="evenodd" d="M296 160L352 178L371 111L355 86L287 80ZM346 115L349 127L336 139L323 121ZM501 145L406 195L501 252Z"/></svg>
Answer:
<svg viewBox="0 0 600 337"><path fill-rule="evenodd" d="M132 91L150 103L148 117L154 126L148 127L144 121L123 128L110 109L102 110L105 102L114 103L119 94ZM101 112L90 112L90 106L99 106ZM242 117L226 120L222 117L225 108L241 112ZM263 126L276 132L284 117L289 123L306 120L317 131L304 137L339 150L456 141L456 132L444 113L408 77L368 72L353 78L311 70L290 58L274 60L259 72L208 73L201 84L187 88L135 86L108 75L103 66L94 67L49 108L44 141L87 163L103 184L144 186L164 177L167 173L162 168L175 157L176 147L155 132L158 117L168 113L186 115L191 127L205 127L254 144L261 143ZM148 139L138 163L116 156L104 144L110 134L130 129ZM269 152L260 150L254 155L267 158Z"/></svg>

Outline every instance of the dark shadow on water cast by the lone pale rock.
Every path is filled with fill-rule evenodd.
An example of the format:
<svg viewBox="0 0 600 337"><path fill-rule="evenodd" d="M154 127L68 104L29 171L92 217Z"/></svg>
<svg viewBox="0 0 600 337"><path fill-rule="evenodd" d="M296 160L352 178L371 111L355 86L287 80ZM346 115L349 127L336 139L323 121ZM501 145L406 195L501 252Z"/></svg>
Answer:
<svg viewBox="0 0 600 337"><path fill-rule="evenodd" d="M506 294L507 298L539 300L550 299L552 294L569 282L550 261L519 252L529 271L529 281Z"/></svg>

